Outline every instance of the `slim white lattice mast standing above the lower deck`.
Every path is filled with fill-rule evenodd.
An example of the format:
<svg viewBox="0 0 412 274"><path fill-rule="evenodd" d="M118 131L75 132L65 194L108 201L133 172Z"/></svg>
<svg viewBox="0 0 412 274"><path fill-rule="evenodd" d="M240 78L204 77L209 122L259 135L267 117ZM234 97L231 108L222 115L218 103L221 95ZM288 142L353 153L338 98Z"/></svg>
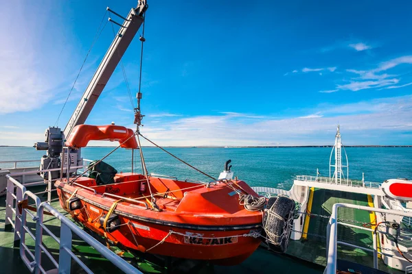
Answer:
<svg viewBox="0 0 412 274"><path fill-rule="evenodd" d="M330 179L330 182L334 182L335 184L341 184L342 178L345 179L345 173L343 173L343 168L347 169L346 179L348 179L349 177L349 162L347 161L347 154L344 148L343 148L343 151L345 152L346 165L342 165L342 148L343 148L343 145L342 145L342 140L341 140L341 131L338 125L338 128L336 129L335 143L332 148L332 151L330 152L330 158L329 158L329 179ZM332 164L332 154L333 153L334 153L334 164ZM333 176L331 177L332 167L334 167L334 173L333 173Z"/></svg>

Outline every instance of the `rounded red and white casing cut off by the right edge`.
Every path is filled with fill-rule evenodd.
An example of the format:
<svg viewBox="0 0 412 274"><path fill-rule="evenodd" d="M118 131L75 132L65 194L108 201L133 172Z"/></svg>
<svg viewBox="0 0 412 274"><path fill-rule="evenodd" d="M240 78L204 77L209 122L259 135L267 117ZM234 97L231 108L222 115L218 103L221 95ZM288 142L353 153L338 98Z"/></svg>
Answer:
<svg viewBox="0 0 412 274"><path fill-rule="evenodd" d="M409 179L388 179L382 184L385 195L402 201L412 201L412 181Z"/></svg>

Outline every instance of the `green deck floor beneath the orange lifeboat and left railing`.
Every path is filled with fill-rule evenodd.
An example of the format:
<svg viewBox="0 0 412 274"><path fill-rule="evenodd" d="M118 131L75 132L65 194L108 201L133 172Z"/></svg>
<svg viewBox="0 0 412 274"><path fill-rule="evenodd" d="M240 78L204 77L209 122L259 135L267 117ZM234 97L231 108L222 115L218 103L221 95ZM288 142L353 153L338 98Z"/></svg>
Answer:
<svg viewBox="0 0 412 274"><path fill-rule="evenodd" d="M42 189L32 190L40 191ZM26 269L23 261L19 256L19 248L13 248L13 232L6 232L4 230L5 219L5 197L0 197L0 258L2 266L0 273L29 273ZM60 205L57 201L52 203L54 208L60 210L63 214L66 214L60 209ZM67 216L67 214L66 214ZM30 216L27 216L27 220L30 220ZM31 227L34 227L34 223L31 223ZM60 221L50 216L45 216L45 225L56 236L60 232ZM34 229L32 229L32 232ZM44 233L43 233L44 234ZM95 236L98 240L102 240L101 237ZM33 250L34 241L26 234L26 245ZM54 258L58 259L58 245L49 236L43 236L43 244L52 252ZM73 236L72 250L82 261L87 264L95 273L119 273L120 271L108 262L92 247L89 247L85 242ZM174 260L173 262L167 262L164 258L157 258L150 254L135 254L124 253L124 258L133 264L144 273L262 273L262 269L276 269L276 273L323 273L323 266L299 260L290 256L282 256L268 251L264 248L260 248L253 255L238 266L215 266L208 263L194 262L191 260ZM42 256L42 265L46 270L53 269L52 263L48 260L47 256ZM78 267L76 262L72 262L71 273L84 273Z"/></svg>

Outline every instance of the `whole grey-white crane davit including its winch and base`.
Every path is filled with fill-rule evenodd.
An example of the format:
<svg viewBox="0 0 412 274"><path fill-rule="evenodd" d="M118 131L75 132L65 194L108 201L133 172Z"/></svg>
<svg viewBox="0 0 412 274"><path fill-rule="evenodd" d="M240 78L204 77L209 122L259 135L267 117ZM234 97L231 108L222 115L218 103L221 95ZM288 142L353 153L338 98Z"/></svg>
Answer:
<svg viewBox="0 0 412 274"><path fill-rule="evenodd" d="M109 21L120 26L119 32L115 36L111 46L108 48L102 62L95 71L89 85L84 94L81 97L77 107L71 114L69 121L65 127L64 131L61 131L59 127L49 127L45 132L45 142L36 142L34 147L36 150L46 150L47 155L41 158L40 171L44 169L58 169L61 166L61 153L63 152L63 145L65 138L69 136L73 127L76 125L82 125L87 117L89 116L91 110L93 109L96 101L98 101L104 87L106 86L108 79L116 69L117 64L119 64L122 56L126 52L126 49L132 42L133 38L137 34L140 26L144 22L144 12L148 9L146 0L140 0L137 8L132 8L128 16L123 17L113 10L107 8L109 12L119 16L119 18L124 19L123 24L116 23L111 18ZM80 150L69 151L70 153L70 163L75 164L75 166L80 166L82 164L82 158L80 157ZM44 179L48 179L47 173L41 173ZM52 179L58 177L58 171L52 173Z"/></svg>

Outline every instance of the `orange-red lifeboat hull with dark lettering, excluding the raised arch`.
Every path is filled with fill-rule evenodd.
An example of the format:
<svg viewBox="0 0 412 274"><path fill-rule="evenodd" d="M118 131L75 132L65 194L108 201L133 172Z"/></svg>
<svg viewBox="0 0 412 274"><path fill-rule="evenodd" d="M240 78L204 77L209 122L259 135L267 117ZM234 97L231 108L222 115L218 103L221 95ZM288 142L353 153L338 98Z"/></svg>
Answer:
<svg viewBox="0 0 412 274"><path fill-rule="evenodd" d="M88 179L80 180L76 185L56 182L60 206L65 208L73 219L104 236L102 219L118 199L102 195L102 191L104 189L105 192L109 190L116 192L116 195L122 195L127 192L128 183L94 186L95 183ZM209 260L224 265L239 264L260 245L261 240L256 236L256 232L260 231L262 212L248 212L242 209L232 189L224 185L214 186L213 189L207 189L205 186L196 188L196 184L157 179L169 189L172 186L179 187L182 183L185 188L193 187L194 190L188 190L186 195L183 191L172 192L175 195L172 197L174 199L157 199L161 211L152 210L148 200L146 200L147 209L143 203L133 204L128 201L117 203L113 215L117 217L118 225L112 232L106 232L106 238L111 244L161 256ZM151 178L151 182L152 180L156 181ZM80 184L87 188L80 187ZM241 185L253 192L244 182L241 182ZM159 186L156 184L154 186L159 190ZM134 187L139 189L139 184ZM129 192L128 196L133 195ZM198 206L192 203L190 199L192 196L200 197ZM214 205L214 208L207 204L207 199L214 196L216 199L228 197L229 199L219 203L217 207ZM73 201L75 197L81 205L76 204L77 209L71 210L67 201ZM190 207L185 207L186 198L188 204L192 203ZM206 201L201 198L205 198ZM179 203L179 205L174 207L172 203ZM230 206L230 203L233 205ZM219 207L222 210L219 210Z"/></svg>

